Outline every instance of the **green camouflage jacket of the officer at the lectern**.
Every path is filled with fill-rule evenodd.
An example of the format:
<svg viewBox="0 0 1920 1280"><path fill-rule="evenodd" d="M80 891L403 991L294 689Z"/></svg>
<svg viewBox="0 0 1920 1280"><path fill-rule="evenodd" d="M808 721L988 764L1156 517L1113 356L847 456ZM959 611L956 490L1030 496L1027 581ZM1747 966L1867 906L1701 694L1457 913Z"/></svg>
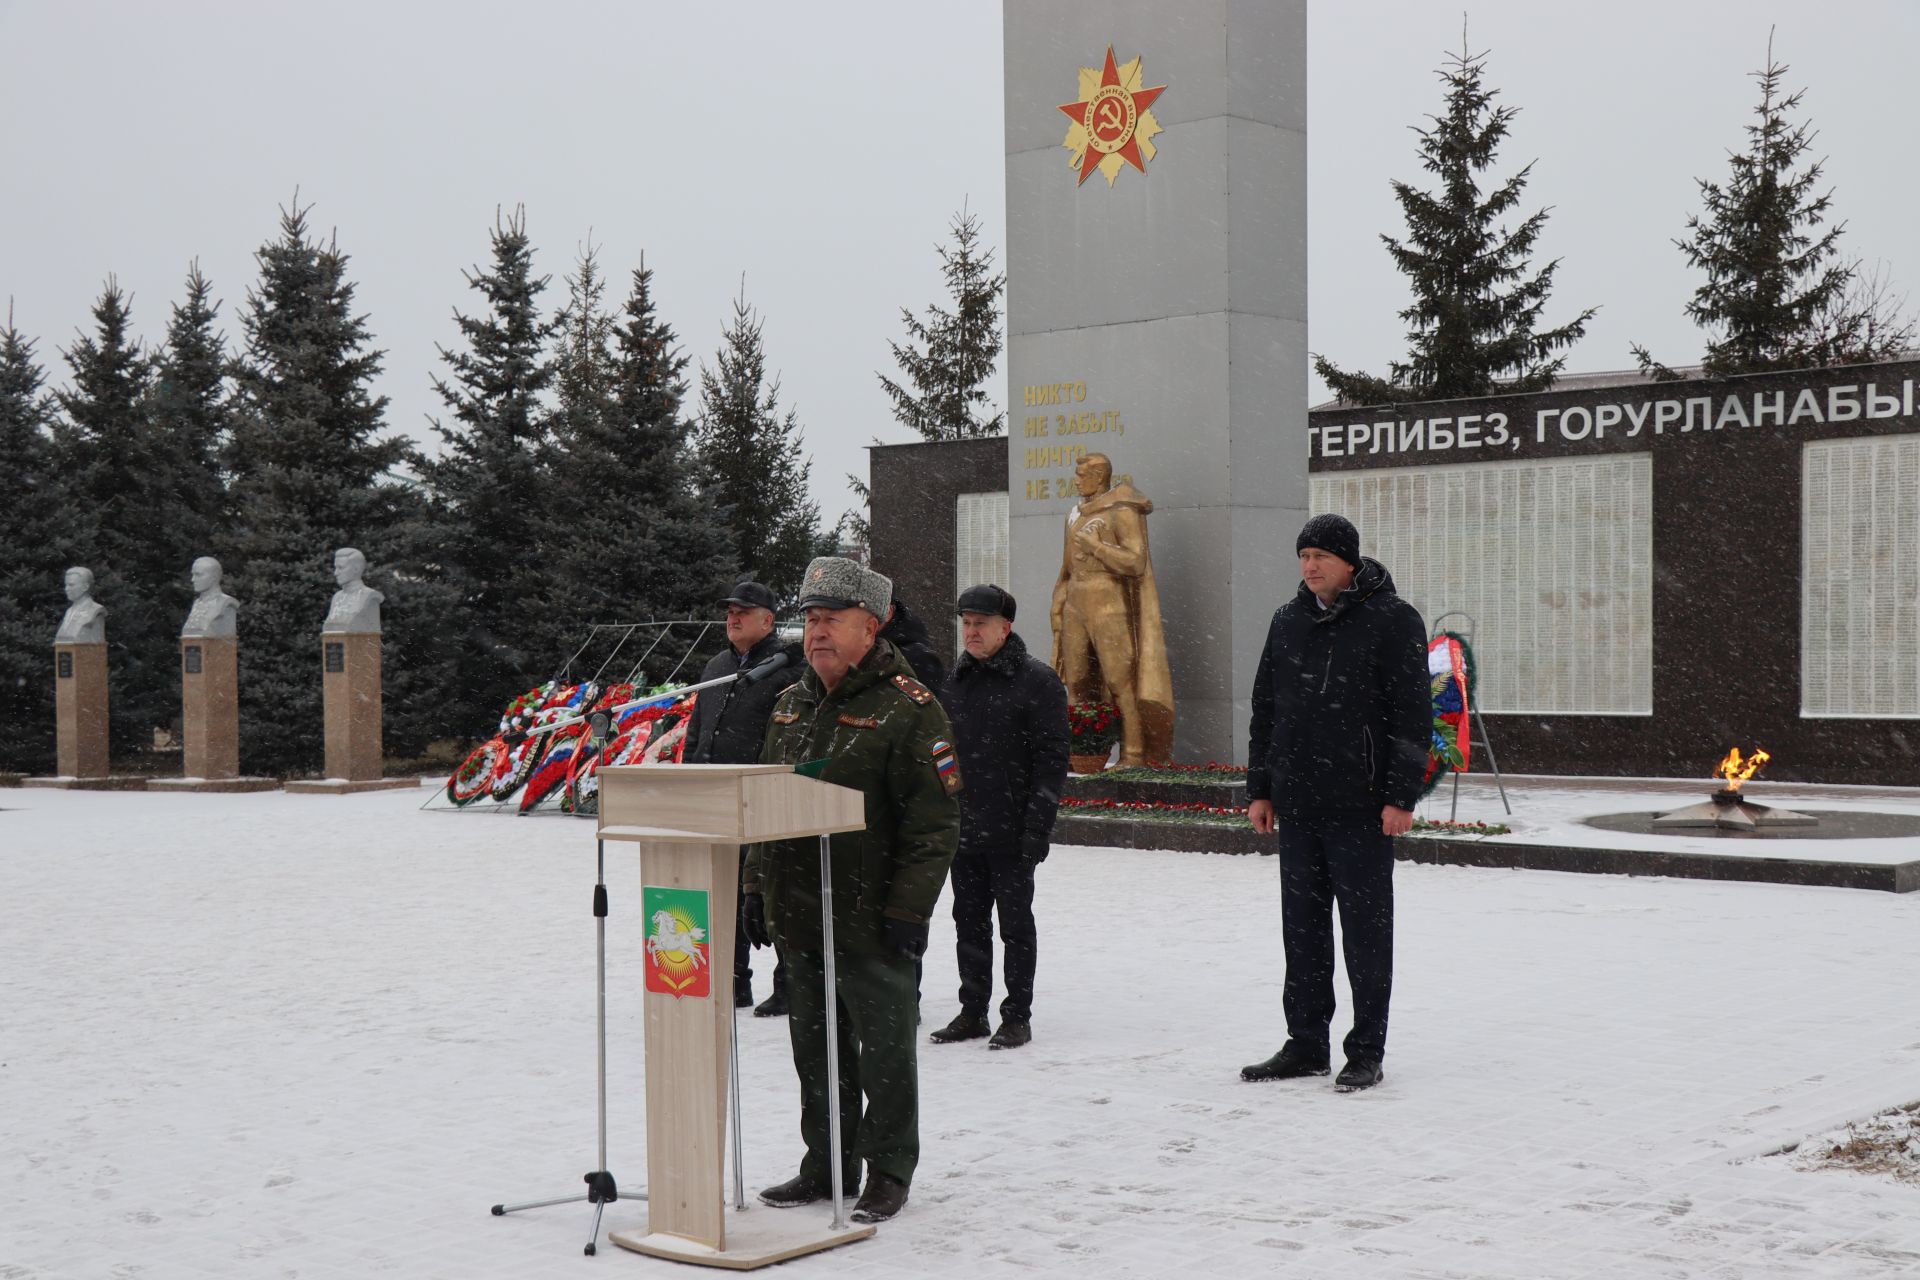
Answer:
<svg viewBox="0 0 1920 1280"><path fill-rule="evenodd" d="M833 940L885 952L885 917L925 923L960 844L960 764L952 725L887 641L828 693L806 670L780 695L762 764L826 760L822 781L866 794L866 831L833 841ZM766 902L781 948L820 952L820 841L755 844L741 892Z"/></svg>

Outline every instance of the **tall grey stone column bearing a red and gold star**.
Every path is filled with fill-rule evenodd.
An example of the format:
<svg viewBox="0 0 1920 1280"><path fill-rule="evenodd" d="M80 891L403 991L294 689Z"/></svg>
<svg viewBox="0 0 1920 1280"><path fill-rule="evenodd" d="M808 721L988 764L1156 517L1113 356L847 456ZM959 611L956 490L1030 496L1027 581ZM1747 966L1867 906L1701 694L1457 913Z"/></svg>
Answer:
<svg viewBox="0 0 1920 1280"><path fill-rule="evenodd" d="M1308 501L1306 0L1008 0L1004 23L1018 628L1050 652L1073 464L1106 453L1154 501L1175 756L1244 760Z"/></svg>

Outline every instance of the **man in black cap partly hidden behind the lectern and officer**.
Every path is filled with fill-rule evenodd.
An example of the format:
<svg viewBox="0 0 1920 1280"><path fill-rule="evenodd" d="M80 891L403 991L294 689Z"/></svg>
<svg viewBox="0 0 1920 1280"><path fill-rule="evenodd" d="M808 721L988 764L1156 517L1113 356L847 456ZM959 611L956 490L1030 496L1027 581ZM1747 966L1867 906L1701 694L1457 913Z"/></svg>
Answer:
<svg viewBox="0 0 1920 1280"><path fill-rule="evenodd" d="M693 716L687 722L687 748L682 760L687 764L758 764L760 745L766 741L766 718L774 714L774 699L787 685L801 677L804 658L799 645L781 645L774 635L774 593L756 581L743 581L726 597L726 639L728 647L716 652L701 683L726 676L747 676L776 654L787 654L787 662L770 676L747 683L735 679L732 685L707 689L693 697ZM745 852L741 852L745 867ZM745 921L733 931L733 1006L753 1004L753 948L747 942ZM780 1017L787 1011L787 996L781 988L780 963L774 965L774 988L753 1013L755 1017Z"/></svg>

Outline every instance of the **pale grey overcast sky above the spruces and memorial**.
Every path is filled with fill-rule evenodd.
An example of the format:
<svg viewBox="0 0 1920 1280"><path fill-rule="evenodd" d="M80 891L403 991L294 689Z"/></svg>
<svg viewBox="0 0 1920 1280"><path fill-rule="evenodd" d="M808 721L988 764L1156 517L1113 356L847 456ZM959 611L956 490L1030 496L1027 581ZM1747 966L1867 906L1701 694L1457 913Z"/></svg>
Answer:
<svg viewBox="0 0 1920 1280"><path fill-rule="evenodd" d="M1912 288L1920 4L1471 6L1471 44L1521 107L1498 173L1536 159L1524 207L1553 205L1548 320L1601 307L1569 368L1626 367L1634 340L1697 355L1680 311L1695 276L1670 240L1693 178L1724 177L1743 140L1770 25L1820 129L1845 251ZM1405 286L1379 234L1404 230L1388 178L1423 178L1407 127L1438 109L1432 71L1459 27L1432 2L1311 6L1311 345L1342 365L1384 372L1404 353ZM1073 88L1062 69L1062 100ZM874 370L899 307L939 297L948 219L966 201L1004 240L1000 115L998 0L0 0L0 296L56 382L108 273L154 340L198 257L236 340L252 253L298 186L353 255L390 422L430 439L434 345L478 303L461 269L486 259L495 207L524 203L549 301L589 232L611 294L645 251L695 361L745 274L831 520L862 445L906 439Z"/></svg>

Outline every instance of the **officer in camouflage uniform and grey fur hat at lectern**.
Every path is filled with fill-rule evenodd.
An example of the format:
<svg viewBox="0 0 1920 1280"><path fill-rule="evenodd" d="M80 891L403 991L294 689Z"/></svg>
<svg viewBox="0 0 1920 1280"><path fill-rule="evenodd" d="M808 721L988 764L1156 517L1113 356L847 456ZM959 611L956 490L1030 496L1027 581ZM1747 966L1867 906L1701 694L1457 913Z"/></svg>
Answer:
<svg viewBox="0 0 1920 1280"><path fill-rule="evenodd" d="M856 1222L906 1203L920 1161L914 961L960 844L960 764L947 714L879 639L893 583L852 560L806 566L806 674L774 704L760 760L826 760L824 781L866 794L866 831L831 837L833 969L841 1065L841 1180L866 1190ZM820 846L755 846L741 885L749 935L787 963L787 1029L801 1077L799 1176L760 1192L776 1207L831 1196Z"/></svg>

